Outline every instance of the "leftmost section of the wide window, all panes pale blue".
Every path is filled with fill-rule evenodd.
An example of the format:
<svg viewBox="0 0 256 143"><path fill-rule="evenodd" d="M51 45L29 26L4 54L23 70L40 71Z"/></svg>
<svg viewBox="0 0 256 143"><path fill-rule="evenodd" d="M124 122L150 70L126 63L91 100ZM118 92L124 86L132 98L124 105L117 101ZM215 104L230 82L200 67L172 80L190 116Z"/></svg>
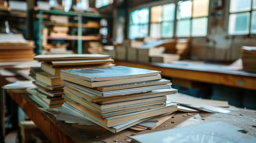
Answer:
<svg viewBox="0 0 256 143"><path fill-rule="evenodd" d="M143 8L130 13L129 38L143 38L149 34L149 8Z"/></svg>

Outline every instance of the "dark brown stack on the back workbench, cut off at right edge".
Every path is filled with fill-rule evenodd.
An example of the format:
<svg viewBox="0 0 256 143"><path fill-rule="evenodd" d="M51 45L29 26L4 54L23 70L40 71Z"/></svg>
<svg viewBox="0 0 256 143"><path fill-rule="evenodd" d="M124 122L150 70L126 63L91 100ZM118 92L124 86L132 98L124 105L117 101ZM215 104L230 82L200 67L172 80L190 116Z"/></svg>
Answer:
<svg viewBox="0 0 256 143"><path fill-rule="evenodd" d="M256 72L256 47L243 46L241 59L245 71Z"/></svg>

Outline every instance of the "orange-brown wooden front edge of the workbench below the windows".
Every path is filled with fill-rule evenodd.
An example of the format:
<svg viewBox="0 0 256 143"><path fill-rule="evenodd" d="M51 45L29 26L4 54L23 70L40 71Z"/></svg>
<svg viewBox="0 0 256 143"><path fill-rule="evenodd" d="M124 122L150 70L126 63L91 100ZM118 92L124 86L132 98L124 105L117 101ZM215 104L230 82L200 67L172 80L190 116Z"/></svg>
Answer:
<svg viewBox="0 0 256 143"><path fill-rule="evenodd" d="M150 64L142 64L142 63L128 63L115 61L116 65L125 65L130 67L139 67L151 70L159 70L162 71L162 76L167 76L170 78L181 78L186 80L194 80L205 83L213 83L218 85L228 85L232 87L239 87L245 89L253 89L256 90L256 77L251 76L241 76L234 74L222 74L215 72L206 72L206 71L195 71L188 69L176 69L176 68L167 68L167 67L159 67Z"/></svg>

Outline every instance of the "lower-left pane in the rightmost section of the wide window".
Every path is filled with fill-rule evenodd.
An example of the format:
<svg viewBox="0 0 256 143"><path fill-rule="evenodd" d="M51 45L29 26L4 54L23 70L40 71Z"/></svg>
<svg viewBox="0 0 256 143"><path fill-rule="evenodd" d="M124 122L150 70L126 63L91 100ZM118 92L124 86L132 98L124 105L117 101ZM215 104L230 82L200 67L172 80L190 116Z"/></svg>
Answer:
<svg viewBox="0 0 256 143"><path fill-rule="evenodd" d="M178 20L177 21L177 37L189 37L190 36L190 20Z"/></svg>

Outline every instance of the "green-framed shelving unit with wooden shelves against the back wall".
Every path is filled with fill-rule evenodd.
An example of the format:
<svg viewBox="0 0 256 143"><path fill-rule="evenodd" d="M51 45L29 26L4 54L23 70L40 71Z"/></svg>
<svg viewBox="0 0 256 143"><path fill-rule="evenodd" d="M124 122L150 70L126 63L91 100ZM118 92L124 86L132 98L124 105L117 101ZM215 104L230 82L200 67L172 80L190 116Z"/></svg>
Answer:
<svg viewBox="0 0 256 143"><path fill-rule="evenodd" d="M59 11L59 10L38 10L37 12L39 14L38 22L39 22L39 40L38 40L38 54L42 53L42 40L43 40L43 27L45 26L67 26L67 27L77 27L77 35L66 35L66 36L47 36L47 39L49 40L77 40L78 41L78 54L82 54L82 41L83 40L101 40L101 36L90 36L90 35L83 35L82 29L83 28L90 28L90 29L99 29L101 26L99 25L90 25L89 23L82 23L83 18L88 19L94 19L95 21L99 21L103 16L101 14L97 13L81 13L81 12L75 12L75 11ZM50 16L50 15L62 15L62 16L71 16L71 17L77 17L77 22L68 22L68 23L55 23L51 21L47 21L44 18L44 14Z"/></svg>

